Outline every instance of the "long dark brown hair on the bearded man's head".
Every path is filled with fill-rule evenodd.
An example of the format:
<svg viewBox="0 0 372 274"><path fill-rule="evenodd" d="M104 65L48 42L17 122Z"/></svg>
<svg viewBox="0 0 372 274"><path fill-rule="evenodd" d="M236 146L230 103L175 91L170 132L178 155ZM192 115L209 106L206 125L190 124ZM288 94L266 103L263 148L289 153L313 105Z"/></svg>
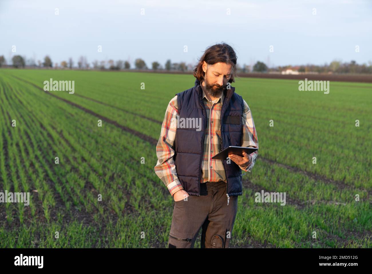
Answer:
<svg viewBox="0 0 372 274"><path fill-rule="evenodd" d="M203 71L203 62L206 62L209 65L214 65L215 63L225 63L225 64L231 64L232 65L232 73L230 80L228 82L232 83L235 82L234 76L235 70L236 70L236 61L237 57L235 54L234 49L226 44L215 44L213 46L208 47L205 51L202 57L199 59L198 64L194 68L194 77L201 82L204 80L205 72Z"/></svg>

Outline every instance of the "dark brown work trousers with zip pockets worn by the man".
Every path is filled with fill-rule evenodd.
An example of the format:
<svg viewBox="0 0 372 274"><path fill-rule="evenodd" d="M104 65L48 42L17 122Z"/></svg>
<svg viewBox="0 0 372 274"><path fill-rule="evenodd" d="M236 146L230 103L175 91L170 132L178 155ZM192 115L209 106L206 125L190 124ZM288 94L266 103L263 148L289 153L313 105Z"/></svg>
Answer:
<svg viewBox="0 0 372 274"><path fill-rule="evenodd" d="M226 184L202 183L199 197L174 201L169 248L193 248L201 228L201 248L229 248L238 196L227 204Z"/></svg>

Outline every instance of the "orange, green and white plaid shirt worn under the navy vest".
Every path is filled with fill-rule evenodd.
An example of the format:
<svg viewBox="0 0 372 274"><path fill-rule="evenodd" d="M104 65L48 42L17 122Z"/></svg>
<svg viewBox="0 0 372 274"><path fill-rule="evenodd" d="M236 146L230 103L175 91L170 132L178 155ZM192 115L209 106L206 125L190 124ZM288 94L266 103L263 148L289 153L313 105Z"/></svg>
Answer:
<svg viewBox="0 0 372 274"><path fill-rule="evenodd" d="M204 182L226 182L226 173L222 160L211 159L215 154L220 152L221 125L220 116L222 103L225 98L224 93L215 101L209 101L203 90L203 102L206 108L207 121L206 133L204 137L203 155L202 155L202 176L201 183ZM244 101L244 100L243 100ZM177 123L172 122L176 119L178 113L177 95L174 96L167 107L164 121L161 126L161 133L156 145L157 164L154 167L156 175L164 182L170 194L174 195L180 189L183 189L176 171L173 156L175 154L174 139L176 137ZM243 134L241 146L253 146L258 148L257 132L254 127L253 117L246 101L244 101L244 110L242 115ZM251 171L256 162L258 151L250 154L250 162L247 166L240 166L243 171ZM231 162L233 162L231 160ZM187 165L187 163L185 163Z"/></svg>

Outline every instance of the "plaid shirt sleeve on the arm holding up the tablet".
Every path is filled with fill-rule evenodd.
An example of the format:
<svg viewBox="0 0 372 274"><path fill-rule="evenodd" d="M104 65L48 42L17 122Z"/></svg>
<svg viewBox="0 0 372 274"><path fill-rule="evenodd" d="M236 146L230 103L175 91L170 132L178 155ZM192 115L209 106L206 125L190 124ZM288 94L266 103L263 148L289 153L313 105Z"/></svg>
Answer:
<svg viewBox="0 0 372 274"><path fill-rule="evenodd" d="M258 138L256 128L254 127L254 121L252 117L251 110L246 101L244 101L244 110L243 110L243 135L241 137L241 146L242 147L256 147L258 149ZM250 154L251 160L247 163L247 166L239 166L243 171L251 171L256 163L258 156L258 150Z"/></svg>

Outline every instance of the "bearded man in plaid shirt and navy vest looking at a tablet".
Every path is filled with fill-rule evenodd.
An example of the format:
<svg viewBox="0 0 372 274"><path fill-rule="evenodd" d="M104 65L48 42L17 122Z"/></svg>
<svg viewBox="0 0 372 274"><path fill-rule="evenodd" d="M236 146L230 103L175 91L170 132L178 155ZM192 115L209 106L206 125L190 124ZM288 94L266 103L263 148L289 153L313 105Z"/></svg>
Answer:
<svg viewBox="0 0 372 274"><path fill-rule="evenodd" d="M212 159L228 146L258 148L251 111L230 85L236 61L227 44L207 48L194 70L195 86L167 107L154 170L174 199L169 248L193 248L201 228L201 248L229 247L241 170L251 171L258 155ZM182 118L196 122L181 127Z"/></svg>

